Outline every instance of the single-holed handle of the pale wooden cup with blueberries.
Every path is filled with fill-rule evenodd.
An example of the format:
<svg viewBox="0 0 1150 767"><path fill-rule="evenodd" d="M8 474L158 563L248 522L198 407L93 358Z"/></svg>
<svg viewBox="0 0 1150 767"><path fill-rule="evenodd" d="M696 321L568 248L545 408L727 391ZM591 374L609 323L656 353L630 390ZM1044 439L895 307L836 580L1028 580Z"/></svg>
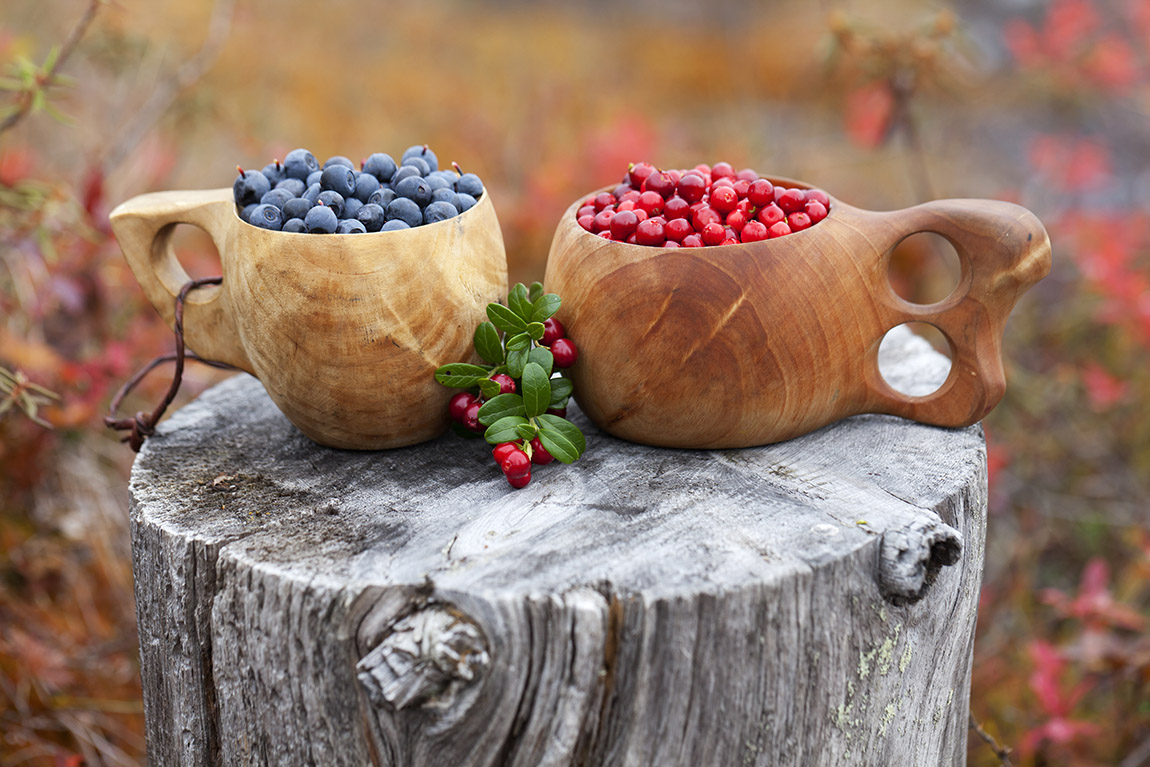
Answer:
<svg viewBox="0 0 1150 767"><path fill-rule="evenodd" d="M171 236L177 224L202 229L220 258L228 252L228 233L236 218L230 189L141 194L112 212L112 231L152 306L169 327L176 321L175 300L191 279L176 258ZM231 314L228 283L189 293L184 301L184 339L204 359L252 371Z"/></svg>

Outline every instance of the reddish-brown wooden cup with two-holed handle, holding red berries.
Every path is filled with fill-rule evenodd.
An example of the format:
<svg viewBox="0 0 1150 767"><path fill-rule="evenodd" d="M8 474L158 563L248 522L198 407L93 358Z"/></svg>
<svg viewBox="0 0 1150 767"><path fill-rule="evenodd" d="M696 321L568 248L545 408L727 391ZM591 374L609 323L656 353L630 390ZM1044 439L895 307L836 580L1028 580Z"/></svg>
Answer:
<svg viewBox="0 0 1150 767"><path fill-rule="evenodd" d="M831 198L805 231L677 250L597 237L576 222L580 205L560 220L544 281L580 350L575 398L599 428L647 445L761 445L859 413L974 423L1005 391L1007 315L1050 270L1042 223L994 200L876 213ZM930 305L899 298L887 276L890 251L922 231L961 262L958 286ZM949 377L925 397L879 373L879 344L905 322L935 325L951 347Z"/></svg>

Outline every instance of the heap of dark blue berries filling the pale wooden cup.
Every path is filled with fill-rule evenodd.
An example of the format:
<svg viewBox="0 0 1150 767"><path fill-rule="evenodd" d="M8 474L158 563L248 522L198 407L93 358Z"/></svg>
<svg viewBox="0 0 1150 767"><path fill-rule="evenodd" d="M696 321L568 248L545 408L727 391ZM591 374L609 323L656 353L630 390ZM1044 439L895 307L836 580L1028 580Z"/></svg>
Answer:
<svg viewBox="0 0 1150 767"><path fill-rule="evenodd" d="M260 229L314 235L394 231L446 221L483 194L475 174L440 170L425 144L407 148L399 164L373 154L360 170L336 155L323 167L307 149L292 149L263 170L239 170L231 185L239 217Z"/></svg>

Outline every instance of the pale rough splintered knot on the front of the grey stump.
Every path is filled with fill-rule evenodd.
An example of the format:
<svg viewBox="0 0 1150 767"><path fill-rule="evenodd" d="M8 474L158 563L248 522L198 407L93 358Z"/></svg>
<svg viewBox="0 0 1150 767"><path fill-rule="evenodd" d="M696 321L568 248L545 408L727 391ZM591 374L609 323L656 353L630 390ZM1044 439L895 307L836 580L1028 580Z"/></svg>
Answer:
<svg viewBox="0 0 1150 767"><path fill-rule="evenodd" d="M399 619L355 669L376 706L447 707L486 672L486 638L470 619L431 605Z"/></svg>

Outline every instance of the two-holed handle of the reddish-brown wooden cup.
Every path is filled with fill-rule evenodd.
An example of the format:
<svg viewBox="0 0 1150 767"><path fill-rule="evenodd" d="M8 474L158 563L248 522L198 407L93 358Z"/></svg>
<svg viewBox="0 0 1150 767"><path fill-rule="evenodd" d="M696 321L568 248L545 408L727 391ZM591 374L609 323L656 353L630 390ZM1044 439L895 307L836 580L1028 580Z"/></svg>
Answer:
<svg viewBox="0 0 1150 767"><path fill-rule="evenodd" d="M1006 390L1002 337L1018 299L1050 271L1050 238L1026 208L997 200L936 200L903 210L868 214L881 236L872 240L887 254L875 273L874 294L884 308L882 335L866 366L876 412L942 427L965 427L984 417ZM877 233L876 232L876 233ZM929 305L904 300L887 277L889 253L917 232L935 232L954 246L961 262L958 287ZM894 390L879 373L879 344L904 322L926 322L950 343L950 375L935 392L911 397Z"/></svg>

